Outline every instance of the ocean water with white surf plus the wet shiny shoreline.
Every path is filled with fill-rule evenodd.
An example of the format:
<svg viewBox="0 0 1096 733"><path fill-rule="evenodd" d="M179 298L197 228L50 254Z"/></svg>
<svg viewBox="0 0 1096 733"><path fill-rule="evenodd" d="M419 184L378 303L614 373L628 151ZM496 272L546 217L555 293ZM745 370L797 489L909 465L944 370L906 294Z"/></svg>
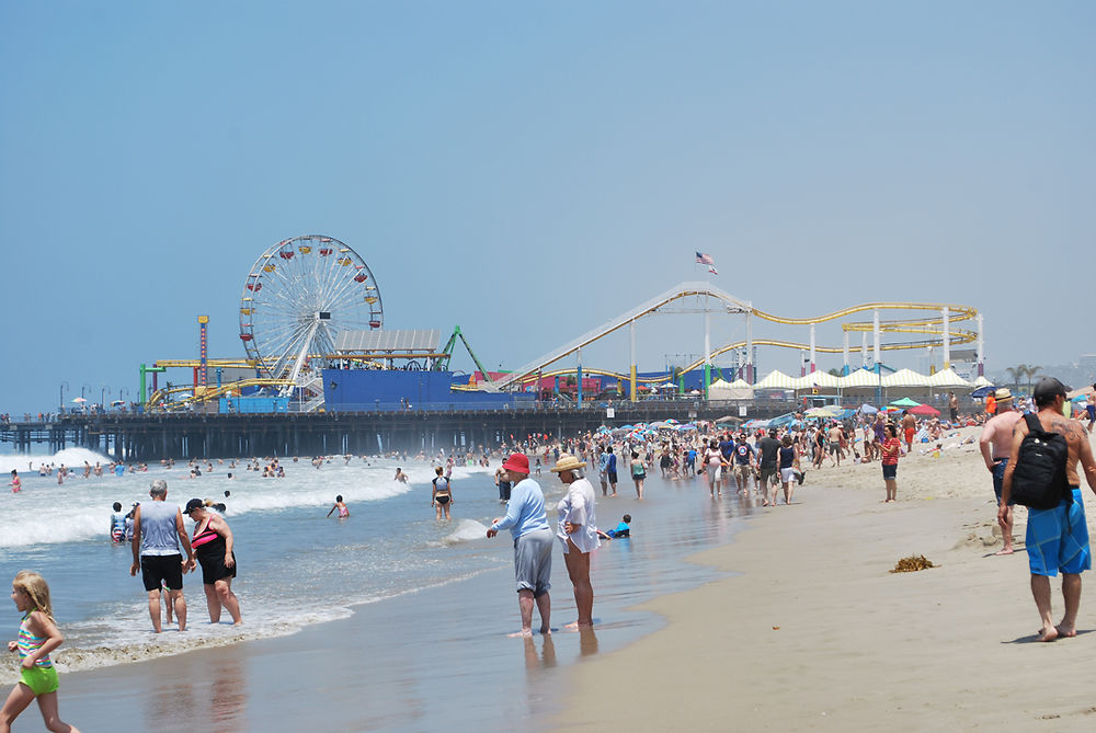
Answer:
<svg viewBox="0 0 1096 733"><path fill-rule="evenodd" d="M129 690L128 683L115 683L118 691L102 696L101 683L127 680L133 675L125 671L137 672L144 663L171 680L172 694L164 694L162 709L145 711L146 723L156 722L157 730L175 730L163 718L178 705L175 692L198 696L208 688L220 695L224 684L208 686L210 675L222 674L237 690L231 705L206 710L205 718L190 710L179 730L202 722L217 730L290 730L269 728L297 714L283 707L297 688L282 690L287 683L285 674L273 672L276 660L292 658L293 665L311 660L308 664L323 669L351 650L334 668L354 680L351 696L365 695L367 702L332 700L322 711L312 707L300 724L320 720L323 725L316 730L413 731L463 720L478 730L510 730L515 715L540 720L558 702L555 696L569 661L619 649L660 628L660 618L633 606L721 576L685 558L730 541L754 511L752 503L734 497L712 501L700 480L661 479L654 476L658 469L648 479L643 502L635 500L630 481L619 485L616 499L602 497L598 490L598 525L615 527L630 513L633 537L605 542L593 556L596 633L580 637L562 630L574 620L574 604L557 552L552 627L559 631L552 644L544 640L523 649L520 640L506 638L520 628L509 532L486 538L488 524L505 511L492 478L498 458L489 468L454 470L449 522L435 519L430 506L434 472L415 460L356 456L347 463L340 456L316 469L309 457L296 462L284 458L286 478L273 479L242 470L244 463L237 459L231 469L236 478L229 479L226 459L215 460L208 472L203 463L203 476L195 479L187 478L185 463L176 463L122 477L83 479L78 472L62 485L56 476L39 478L26 470L28 461L36 468L42 460L82 468L84 460L94 465L105 459L80 449L50 457L0 456L0 468L5 473L18 468L23 479L20 494L0 496L0 574L10 579L31 569L48 581L66 635L54 654L70 690L62 696L62 713L84 731L100 730L89 719L95 722L109 717L112 707L148 697L139 688ZM409 483L393 480L397 466L409 474ZM167 480L169 502L198 497L227 504L239 564L232 587L241 627L232 627L227 612L220 623L208 622L201 575L190 574L184 577L189 630L181 634L165 626L161 634L151 632L139 574L128 573L130 549L110 542L109 519L115 501L126 509L149 501L149 483L156 478ZM545 489L555 527L555 506L564 488L547 470L534 478ZM336 494L351 511L346 519L326 517ZM190 519L184 524L193 530ZM14 632L19 614L13 605L0 615L0 623ZM333 639L333 633L345 639ZM236 651L226 657L226 650ZM0 680L7 683L16 678L14 655L9 656L0 664ZM483 658L489 660L486 665ZM430 680L438 674L459 707L439 710L433 705ZM321 688L313 691L322 696ZM520 709L500 711L500 696L520 700Z"/></svg>

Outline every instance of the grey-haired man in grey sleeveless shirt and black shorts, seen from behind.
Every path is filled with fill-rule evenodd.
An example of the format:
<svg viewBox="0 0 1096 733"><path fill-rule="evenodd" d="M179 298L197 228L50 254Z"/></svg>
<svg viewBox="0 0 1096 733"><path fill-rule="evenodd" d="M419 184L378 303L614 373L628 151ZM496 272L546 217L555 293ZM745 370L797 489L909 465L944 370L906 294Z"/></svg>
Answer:
<svg viewBox="0 0 1096 733"><path fill-rule="evenodd" d="M141 581L148 593L148 615L152 629L160 633L160 584L165 583L175 607L179 630L186 630L186 599L183 598L183 573L195 566L191 539L183 527L183 513L178 504L168 504L168 482L157 479L148 492L151 502L134 507L134 562L129 574L141 571ZM182 542L186 560L179 551Z"/></svg>

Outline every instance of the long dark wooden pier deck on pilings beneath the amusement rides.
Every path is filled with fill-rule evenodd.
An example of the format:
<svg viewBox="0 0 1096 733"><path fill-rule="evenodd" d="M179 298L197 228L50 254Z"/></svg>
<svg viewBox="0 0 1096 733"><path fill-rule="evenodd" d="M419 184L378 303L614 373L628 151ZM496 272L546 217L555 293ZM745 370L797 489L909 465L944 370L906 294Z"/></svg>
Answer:
<svg viewBox="0 0 1096 733"><path fill-rule="evenodd" d="M750 417L773 417L791 409L785 401L753 402ZM328 413L99 413L61 415L49 422L0 425L0 445L28 454L88 448L115 461L162 458L374 455L392 450L427 454L494 448L528 435L552 438L673 417L682 423L737 415L738 403L701 400L623 401L606 406L540 406L528 410L453 410Z"/></svg>

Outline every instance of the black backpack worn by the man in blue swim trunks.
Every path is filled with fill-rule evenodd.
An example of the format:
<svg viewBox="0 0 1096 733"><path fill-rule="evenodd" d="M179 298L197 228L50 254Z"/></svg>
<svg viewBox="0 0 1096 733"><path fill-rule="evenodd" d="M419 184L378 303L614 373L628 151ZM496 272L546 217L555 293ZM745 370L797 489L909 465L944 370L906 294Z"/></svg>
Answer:
<svg viewBox="0 0 1096 733"><path fill-rule="evenodd" d="M1052 509L1072 497L1065 478L1070 445L1058 433L1048 433L1034 414L1024 415L1028 434L1020 442L1013 469L1012 500L1032 509Z"/></svg>

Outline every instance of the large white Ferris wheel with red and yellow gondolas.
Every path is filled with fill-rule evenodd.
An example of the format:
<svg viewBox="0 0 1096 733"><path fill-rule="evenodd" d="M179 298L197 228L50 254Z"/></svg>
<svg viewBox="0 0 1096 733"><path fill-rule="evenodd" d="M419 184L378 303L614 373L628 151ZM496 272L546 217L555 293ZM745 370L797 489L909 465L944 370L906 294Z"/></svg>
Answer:
<svg viewBox="0 0 1096 733"><path fill-rule="evenodd" d="M285 239L255 261L240 299L240 341L271 379L298 382L342 331L379 329L380 288L357 252L331 237ZM283 394L293 388L283 388Z"/></svg>

